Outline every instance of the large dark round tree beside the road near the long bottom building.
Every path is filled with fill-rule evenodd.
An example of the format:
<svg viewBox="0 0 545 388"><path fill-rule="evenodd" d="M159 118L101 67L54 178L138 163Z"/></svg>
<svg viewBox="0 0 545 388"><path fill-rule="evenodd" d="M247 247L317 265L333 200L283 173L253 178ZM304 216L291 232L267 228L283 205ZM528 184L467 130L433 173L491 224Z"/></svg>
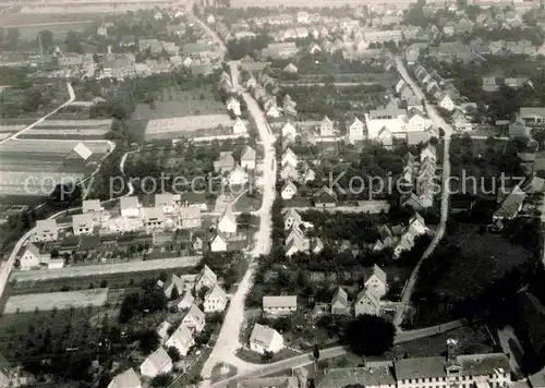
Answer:
<svg viewBox="0 0 545 388"><path fill-rule="evenodd" d="M396 328L376 315L359 315L344 330L344 342L358 355L382 355L393 345Z"/></svg>

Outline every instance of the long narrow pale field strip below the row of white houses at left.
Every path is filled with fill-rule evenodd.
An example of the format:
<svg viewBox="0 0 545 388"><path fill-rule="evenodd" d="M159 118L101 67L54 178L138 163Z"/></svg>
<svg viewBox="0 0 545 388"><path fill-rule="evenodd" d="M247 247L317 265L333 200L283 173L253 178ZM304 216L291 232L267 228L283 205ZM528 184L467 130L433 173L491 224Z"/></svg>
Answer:
<svg viewBox="0 0 545 388"><path fill-rule="evenodd" d="M60 269L37 269L11 272L11 281L45 281L52 279L83 278L112 274L143 272L148 270L195 267L201 263L201 256L161 258L145 262L129 262L116 264L100 264L94 266L78 266ZM191 275L195 277L194 275Z"/></svg>

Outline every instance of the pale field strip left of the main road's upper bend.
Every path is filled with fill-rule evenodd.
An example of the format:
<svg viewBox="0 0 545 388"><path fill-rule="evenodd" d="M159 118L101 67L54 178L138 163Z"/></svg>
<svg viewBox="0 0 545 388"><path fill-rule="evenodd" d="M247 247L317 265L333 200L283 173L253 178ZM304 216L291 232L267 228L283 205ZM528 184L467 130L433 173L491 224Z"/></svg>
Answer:
<svg viewBox="0 0 545 388"><path fill-rule="evenodd" d="M233 120L227 114L186 116L170 119L149 120L146 125L145 136L150 138L165 138L169 134L192 132L196 130L213 129L218 125L232 126ZM177 136L173 136L177 137Z"/></svg>

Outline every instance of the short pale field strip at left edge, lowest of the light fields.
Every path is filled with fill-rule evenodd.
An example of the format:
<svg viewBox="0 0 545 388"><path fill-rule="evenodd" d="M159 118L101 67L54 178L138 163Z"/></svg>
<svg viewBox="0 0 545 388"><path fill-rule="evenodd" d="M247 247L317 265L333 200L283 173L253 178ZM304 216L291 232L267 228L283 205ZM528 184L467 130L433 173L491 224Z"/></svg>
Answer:
<svg viewBox="0 0 545 388"><path fill-rule="evenodd" d="M36 310L51 311L53 308L99 307L106 303L107 299L108 289L15 295L8 298L3 314L28 313Z"/></svg>

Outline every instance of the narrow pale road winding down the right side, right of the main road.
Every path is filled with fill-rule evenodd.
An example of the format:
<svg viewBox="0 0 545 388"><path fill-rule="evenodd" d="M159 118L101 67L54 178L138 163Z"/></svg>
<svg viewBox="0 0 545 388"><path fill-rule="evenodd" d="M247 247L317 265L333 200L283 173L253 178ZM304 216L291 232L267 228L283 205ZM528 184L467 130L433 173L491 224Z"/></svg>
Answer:
<svg viewBox="0 0 545 388"><path fill-rule="evenodd" d="M399 74L405 81L405 83L412 88L412 90L414 92L414 94L416 95L419 100L422 100L422 99L425 100L426 96L424 95L424 92L420 88L419 85L416 85L416 83L409 75L409 72L407 71L407 68L404 66L403 61L401 60L401 57L396 57L396 65L397 65ZM401 325L401 323L403 322L403 317L404 317L407 310L409 307L409 304L411 302L411 295L412 295L412 292L414 291L414 286L416 283L417 277L419 277L420 267L422 266L422 263L434 252L435 247L437 246L439 241L443 239L443 235L445 234L445 226L446 226L447 217L448 217L449 190L447 187L447 183L448 183L448 178L450 177L449 150L450 150L450 137L452 136L452 133L455 131L439 116L439 113L437 112L435 107L427 104L427 101L426 101L426 111L427 111L427 116L434 122L434 124L437 128L443 128L443 130L445 131L445 136L444 136L445 150L444 150L444 157L443 157L440 221L439 221L439 225L437 227L437 230L435 232L435 235L434 235L432 243L429 244L427 250L422 255L422 258L420 259L420 262L414 267L414 269L411 274L411 277L409 278L409 281L407 282L407 286L404 288L403 295L401 298L400 308L396 312L396 317L393 319L393 324L398 328Z"/></svg>

